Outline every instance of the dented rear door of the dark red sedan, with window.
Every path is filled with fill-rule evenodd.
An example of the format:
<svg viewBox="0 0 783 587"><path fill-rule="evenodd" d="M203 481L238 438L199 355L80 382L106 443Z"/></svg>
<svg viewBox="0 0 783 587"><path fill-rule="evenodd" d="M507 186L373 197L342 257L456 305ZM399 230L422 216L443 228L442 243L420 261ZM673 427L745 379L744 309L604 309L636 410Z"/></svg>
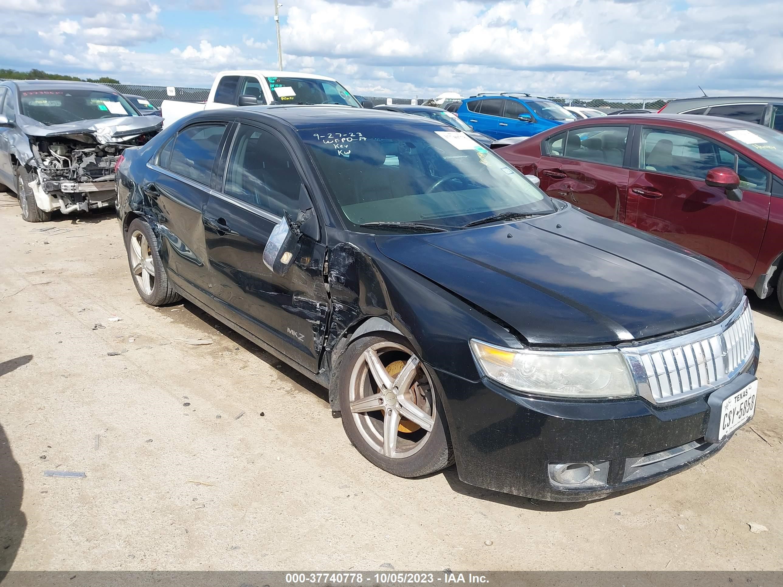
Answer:
<svg viewBox="0 0 783 587"><path fill-rule="evenodd" d="M542 143L540 187L552 197L616 221L625 220L630 172L628 125L579 127Z"/></svg>

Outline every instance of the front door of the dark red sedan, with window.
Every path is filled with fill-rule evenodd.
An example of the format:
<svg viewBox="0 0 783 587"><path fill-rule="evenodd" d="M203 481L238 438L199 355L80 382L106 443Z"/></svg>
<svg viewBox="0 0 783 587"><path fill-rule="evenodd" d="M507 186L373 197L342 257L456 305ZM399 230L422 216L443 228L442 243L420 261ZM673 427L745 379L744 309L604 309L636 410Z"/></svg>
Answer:
<svg viewBox="0 0 783 587"><path fill-rule="evenodd" d="M751 275L770 210L769 174L702 135L640 128L626 223L712 258L737 279ZM704 182L713 167L740 175L742 202Z"/></svg>

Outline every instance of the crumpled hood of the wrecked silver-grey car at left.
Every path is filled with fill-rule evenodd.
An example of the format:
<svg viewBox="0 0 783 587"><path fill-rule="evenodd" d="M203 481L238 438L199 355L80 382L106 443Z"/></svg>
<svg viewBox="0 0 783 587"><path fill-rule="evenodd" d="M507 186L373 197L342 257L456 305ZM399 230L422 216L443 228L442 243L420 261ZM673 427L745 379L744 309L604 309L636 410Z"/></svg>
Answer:
<svg viewBox="0 0 783 587"><path fill-rule="evenodd" d="M143 135L145 132L159 131L163 128L163 118L159 116L121 116L46 125L34 120L34 118L19 114L16 116L16 125L28 136L62 136L84 141L84 137L87 135L103 145L107 142L123 142L134 136Z"/></svg>

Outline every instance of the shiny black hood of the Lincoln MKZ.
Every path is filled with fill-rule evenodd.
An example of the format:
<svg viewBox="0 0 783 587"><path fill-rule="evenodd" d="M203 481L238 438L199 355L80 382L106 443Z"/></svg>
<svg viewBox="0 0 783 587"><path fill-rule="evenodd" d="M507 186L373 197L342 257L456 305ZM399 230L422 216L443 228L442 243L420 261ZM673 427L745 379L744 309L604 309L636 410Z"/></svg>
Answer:
<svg viewBox="0 0 783 587"><path fill-rule="evenodd" d="M570 206L506 224L376 236L381 253L530 344L603 344L687 330L742 300L712 261Z"/></svg>

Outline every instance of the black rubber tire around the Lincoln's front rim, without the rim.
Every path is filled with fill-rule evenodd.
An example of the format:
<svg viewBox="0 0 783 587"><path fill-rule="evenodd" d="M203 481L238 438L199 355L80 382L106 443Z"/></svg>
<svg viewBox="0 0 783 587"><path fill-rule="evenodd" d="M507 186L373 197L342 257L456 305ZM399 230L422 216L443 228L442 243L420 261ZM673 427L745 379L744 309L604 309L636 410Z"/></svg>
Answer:
<svg viewBox="0 0 783 587"><path fill-rule="evenodd" d="M377 447L373 447L366 440L363 433L359 430L359 424L355 420L355 415L351 412L350 387L352 385L352 373L354 373L357 363L363 362L364 351L367 349L379 343L389 342L406 348L410 355L414 354L410 344L405 339L393 333L384 333L384 337L368 336L355 340L341 356L336 371L339 376L338 385L343 428L356 450L373 465L398 477L422 477L445 469L454 462L446 416L442 409L442 396L438 393L437 388L439 384L435 380L434 373L424 372L431 381L431 394L435 397L435 422L424 444L411 456L403 458L384 456L384 454L378 451ZM427 369L424 363L420 363L420 368ZM384 410L380 410L380 413L373 413L378 416L382 429L383 421L387 417ZM366 416L366 414L359 414L358 416ZM360 422L362 421L367 420L360 420ZM405 422L405 420L402 420L402 422Z"/></svg>

